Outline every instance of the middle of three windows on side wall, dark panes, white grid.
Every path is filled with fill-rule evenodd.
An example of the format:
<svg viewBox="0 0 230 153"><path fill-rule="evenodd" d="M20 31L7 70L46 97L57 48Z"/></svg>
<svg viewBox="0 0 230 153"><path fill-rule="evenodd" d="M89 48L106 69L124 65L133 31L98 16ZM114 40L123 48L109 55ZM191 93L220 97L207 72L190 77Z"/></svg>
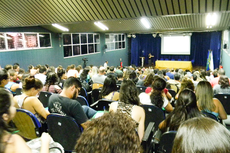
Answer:
<svg viewBox="0 0 230 153"><path fill-rule="evenodd" d="M85 55L99 52L100 37L97 33L63 34L64 57Z"/></svg>

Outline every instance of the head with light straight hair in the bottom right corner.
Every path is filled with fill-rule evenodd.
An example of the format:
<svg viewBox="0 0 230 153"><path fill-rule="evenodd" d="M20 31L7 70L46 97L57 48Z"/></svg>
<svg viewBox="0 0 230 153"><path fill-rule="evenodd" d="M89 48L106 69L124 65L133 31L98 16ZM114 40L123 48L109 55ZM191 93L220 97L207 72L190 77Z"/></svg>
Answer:
<svg viewBox="0 0 230 153"><path fill-rule="evenodd" d="M229 153L230 132L208 117L195 117L181 124L172 153Z"/></svg>

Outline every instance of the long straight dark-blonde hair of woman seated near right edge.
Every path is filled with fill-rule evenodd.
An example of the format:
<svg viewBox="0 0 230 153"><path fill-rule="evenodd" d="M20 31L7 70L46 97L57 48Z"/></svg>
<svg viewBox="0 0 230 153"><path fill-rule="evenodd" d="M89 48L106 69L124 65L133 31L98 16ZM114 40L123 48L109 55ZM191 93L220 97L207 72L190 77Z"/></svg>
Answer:
<svg viewBox="0 0 230 153"><path fill-rule="evenodd" d="M215 104L213 103L213 89L208 81L200 81L196 87L197 106L200 110L213 111Z"/></svg>

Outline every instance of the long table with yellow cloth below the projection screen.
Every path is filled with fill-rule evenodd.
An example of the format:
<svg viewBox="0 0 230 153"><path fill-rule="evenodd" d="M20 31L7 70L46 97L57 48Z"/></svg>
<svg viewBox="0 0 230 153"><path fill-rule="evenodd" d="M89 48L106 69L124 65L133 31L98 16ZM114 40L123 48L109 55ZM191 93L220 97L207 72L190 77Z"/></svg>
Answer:
<svg viewBox="0 0 230 153"><path fill-rule="evenodd" d="M180 68L182 70L190 70L192 71L192 62L191 61L165 61L165 60L157 60L155 61L155 68L162 69L176 69Z"/></svg>

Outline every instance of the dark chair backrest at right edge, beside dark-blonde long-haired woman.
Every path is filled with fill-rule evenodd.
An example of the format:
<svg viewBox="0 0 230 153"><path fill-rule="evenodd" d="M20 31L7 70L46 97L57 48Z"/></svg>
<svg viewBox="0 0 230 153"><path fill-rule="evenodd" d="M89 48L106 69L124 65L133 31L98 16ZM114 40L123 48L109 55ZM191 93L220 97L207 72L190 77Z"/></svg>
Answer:
<svg viewBox="0 0 230 153"><path fill-rule="evenodd" d="M230 94L216 94L214 97L219 99L226 113L230 115Z"/></svg>

